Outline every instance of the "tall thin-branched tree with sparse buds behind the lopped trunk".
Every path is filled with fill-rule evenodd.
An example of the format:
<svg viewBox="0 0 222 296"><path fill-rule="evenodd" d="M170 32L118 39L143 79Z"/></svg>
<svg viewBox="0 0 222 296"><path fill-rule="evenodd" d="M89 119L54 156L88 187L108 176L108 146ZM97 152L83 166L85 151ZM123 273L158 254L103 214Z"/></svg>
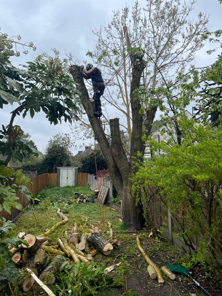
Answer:
<svg viewBox="0 0 222 296"><path fill-rule="evenodd" d="M126 6L122 12L113 12L112 22L107 27L95 29L93 32L97 40L96 49L89 51L87 55L102 69L107 80L112 77L103 100L104 121L109 123L109 112L106 108L110 109L111 104L112 110L120 116L120 128L128 133L130 144L132 67L123 26L128 27L131 47L137 48L141 44L145 50L143 59L146 66L140 84L144 84L145 89L156 89L164 85L163 77L169 84L175 82L178 72L181 75L184 73L196 52L203 46L201 35L197 36L197 33L205 32L208 19L200 13L195 22L189 20L195 2L196 0L192 0L187 4L187 1L184 1L181 5L179 0L147 0L147 5L141 9L136 1L132 11ZM159 94L154 98L163 99L164 96ZM145 107L145 114L146 104L142 102L141 107ZM155 109L156 107L153 109L153 115ZM173 111L172 107L171 112ZM150 119L152 121L152 118ZM79 129L89 136L86 120L79 121L75 125L75 131L78 130L78 124Z"/></svg>

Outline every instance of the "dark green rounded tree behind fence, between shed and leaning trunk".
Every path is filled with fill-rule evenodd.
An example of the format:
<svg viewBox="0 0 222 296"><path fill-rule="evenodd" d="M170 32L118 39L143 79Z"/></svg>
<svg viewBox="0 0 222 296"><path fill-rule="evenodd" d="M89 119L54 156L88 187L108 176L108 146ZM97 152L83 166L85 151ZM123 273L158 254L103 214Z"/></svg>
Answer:
<svg viewBox="0 0 222 296"><path fill-rule="evenodd" d="M107 163L102 155L101 149L99 147L96 148L96 164L95 164L95 155L94 152L89 153L85 157L82 158L82 167L80 168L81 173L89 173L89 174L96 174L96 165L97 170L107 169Z"/></svg>

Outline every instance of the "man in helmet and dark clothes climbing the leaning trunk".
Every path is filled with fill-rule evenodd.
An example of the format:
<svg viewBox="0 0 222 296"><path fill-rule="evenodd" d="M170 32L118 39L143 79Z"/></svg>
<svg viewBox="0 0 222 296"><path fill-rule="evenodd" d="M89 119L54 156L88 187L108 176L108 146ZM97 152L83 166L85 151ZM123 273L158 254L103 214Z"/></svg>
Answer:
<svg viewBox="0 0 222 296"><path fill-rule="evenodd" d="M102 108L101 108L101 101L100 97L104 93L105 85L104 81L102 79L102 73L97 67L93 67L92 64L87 64L86 69L84 69L84 66L81 65L81 70L83 71L83 77L85 79L92 80L93 84L93 90L94 95L93 98L90 99L91 102L94 102L95 104L95 112L93 113L96 117L99 119L99 123L102 124L102 120L100 120L100 117L102 116Z"/></svg>

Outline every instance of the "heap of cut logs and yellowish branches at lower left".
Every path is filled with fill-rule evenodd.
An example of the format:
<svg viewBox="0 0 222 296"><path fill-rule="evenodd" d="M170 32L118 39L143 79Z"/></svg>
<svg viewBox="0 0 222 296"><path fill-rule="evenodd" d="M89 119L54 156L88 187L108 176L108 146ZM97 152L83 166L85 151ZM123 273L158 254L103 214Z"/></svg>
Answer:
<svg viewBox="0 0 222 296"><path fill-rule="evenodd" d="M59 226L68 222L68 218L60 209L57 210L57 215L60 216L62 221L48 229L44 234L39 236L26 234L25 232L18 234L17 237L24 239L28 247L25 244L20 244L17 249L9 247L10 252L13 254L12 260L21 268L20 278L24 278L22 282L24 292L27 292L32 287L34 281L36 281L43 289L45 287L45 291L49 290L48 292L46 291L49 295L53 295L46 285L55 282L56 271L61 269L62 263L66 260L65 257L73 259L74 262L80 260L84 263L90 263L93 262L92 256L97 251L102 252L104 255L109 255L112 252L113 245L119 245L119 242L113 239L111 223L108 222L109 239L105 239L101 235L98 226L93 226L92 224L90 225L89 233L82 234L79 237L77 223L75 223L71 231L65 231L63 239L57 238L57 245L51 246L49 245L50 239L47 236ZM88 243L94 247L94 250L91 252L89 252ZM24 276L24 271L28 271L30 276ZM50 276L48 276L49 274ZM43 286L42 281L45 284Z"/></svg>

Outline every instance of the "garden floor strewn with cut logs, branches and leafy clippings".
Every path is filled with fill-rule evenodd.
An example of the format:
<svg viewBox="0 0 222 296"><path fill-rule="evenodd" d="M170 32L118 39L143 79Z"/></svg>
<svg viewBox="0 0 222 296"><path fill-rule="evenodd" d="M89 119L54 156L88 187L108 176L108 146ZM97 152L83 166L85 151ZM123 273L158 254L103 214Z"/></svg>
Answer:
<svg viewBox="0 0 222 296"><path fill-rule="evenodd" d="M177 276L173 281L174 275L164 268L178 262L181 251L150 231L130 231L110 207L104 207L102 222L101 205L76 203L81 194L74 194L74 189L83 190L86 199L93 196L88 186L53 187L41 192L40 203L19 218L17 233L24 243L11 252L20 276L4 295L80 296L100 291L110 296L128 291L127 295L174 296L184 295L184 289L198 292L187 279ZM131 289L139 294L130 294Z"/></svg>

